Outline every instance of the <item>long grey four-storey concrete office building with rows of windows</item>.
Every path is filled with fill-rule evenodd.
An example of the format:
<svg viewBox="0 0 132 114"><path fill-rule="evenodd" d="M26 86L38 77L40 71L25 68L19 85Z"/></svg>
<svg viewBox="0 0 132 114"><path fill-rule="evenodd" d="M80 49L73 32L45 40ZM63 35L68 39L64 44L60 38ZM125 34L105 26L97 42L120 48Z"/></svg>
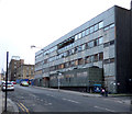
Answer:
<svg viewBox="0 0 132 114"><path fill-rule="evenodd" d="M54 88L61 79L66 88L102 84L113 93L132 92L131 27L132 11L114 5L73 30L35 54L36 83Z"/></svg>

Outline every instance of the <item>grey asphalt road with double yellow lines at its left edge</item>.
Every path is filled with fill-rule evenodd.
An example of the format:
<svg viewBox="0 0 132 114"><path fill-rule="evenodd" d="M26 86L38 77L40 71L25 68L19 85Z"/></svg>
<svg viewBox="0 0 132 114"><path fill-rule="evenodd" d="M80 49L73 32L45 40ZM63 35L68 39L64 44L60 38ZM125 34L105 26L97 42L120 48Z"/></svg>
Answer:
<svg viewBox="0 0 132 114"><path fill-rule="evenodd" d="M73 92L15 86L8 92L20 112L130 112L130 105L109 98L82 96Z"/></svg>

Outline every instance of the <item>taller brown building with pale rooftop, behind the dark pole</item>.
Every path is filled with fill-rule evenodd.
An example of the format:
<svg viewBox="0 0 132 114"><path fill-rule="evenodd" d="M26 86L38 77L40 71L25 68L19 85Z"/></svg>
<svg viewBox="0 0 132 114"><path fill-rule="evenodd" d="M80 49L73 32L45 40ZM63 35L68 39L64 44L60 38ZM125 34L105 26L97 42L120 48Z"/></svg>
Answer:
<svg viewBox="0 0 132 114"><path fill-rule="evenodd" d="M16 80L16 68L23 64L24 64L24 59L20 59L19 56L12 56L11 61L9 64L9 71L8 71L10 81Z"/></svg>

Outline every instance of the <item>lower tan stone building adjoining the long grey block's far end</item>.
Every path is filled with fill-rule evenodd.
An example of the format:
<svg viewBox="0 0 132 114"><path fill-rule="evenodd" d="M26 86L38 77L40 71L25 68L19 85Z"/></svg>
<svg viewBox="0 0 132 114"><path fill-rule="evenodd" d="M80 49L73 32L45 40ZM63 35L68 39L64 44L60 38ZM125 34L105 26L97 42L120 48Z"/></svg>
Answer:
<svg viewBox="0 0 132 114"><path fill-rule="evenodd" d="M16 69L16 79L34 79L34 65L21 65Z"/></svg>

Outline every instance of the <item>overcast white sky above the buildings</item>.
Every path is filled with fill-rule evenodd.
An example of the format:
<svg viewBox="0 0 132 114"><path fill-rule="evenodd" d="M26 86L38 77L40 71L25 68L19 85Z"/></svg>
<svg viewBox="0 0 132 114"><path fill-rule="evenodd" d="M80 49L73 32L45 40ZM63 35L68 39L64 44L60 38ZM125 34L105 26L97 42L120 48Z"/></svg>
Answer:
<svg viewBox="0 0 132 114"><path fill-rule="evenodd" d="M31 45L45 47L114 4L130 9L130 1L0 0L0 70L7 52L34 64L38 48Z"/></svg>

